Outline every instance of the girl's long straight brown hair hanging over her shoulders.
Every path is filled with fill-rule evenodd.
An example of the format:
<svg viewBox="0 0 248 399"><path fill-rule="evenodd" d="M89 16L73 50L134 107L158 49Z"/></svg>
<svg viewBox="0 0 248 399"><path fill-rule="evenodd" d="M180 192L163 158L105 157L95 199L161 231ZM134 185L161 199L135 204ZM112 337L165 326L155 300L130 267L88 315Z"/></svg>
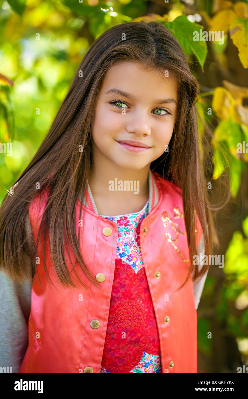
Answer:
<svg viewBox="0 0 248 399"><path fill-rule="evenodd" d="M2 201L0 265L10 277L18 280L22 280L24 276L30 278L30 268L34 274L37 267L37 242L34 242L32 233L31 240L28 239L25 221L29 204L37 194L38 182L39 193L49 187L39 234L41 230L47 231L49 227L51 259L55 274L65 286L75 286L64 258L66 233L67 250L69 241L80 268L94 285L99 286L82 258L78 241L80 227L77 240L74 214L77 198L86 188L92 165L92 110L98 100L108 68L117 61L125 60L138 62L156 70L164 68L172 71L177 79L178 118L170 140L170 150L152 162L150 168L182 188L191 259L186 281L193 270L193 278L198 277L198 267L193 266L192 260L193 255L197 254L195 212L203 229L205 254L211 254L215 231L207 190L207 182L211 181L213 172L211 149L207 147L210 145L211 136L203 135L199 140L195 105L199 95L198 83L190 72L178 41L163 24L129 22L107 30L90 47L74 75L49 132L27 168L16 180L18 185L14 188L14 194L6 194ZM79 151L81 145L82 151ZM81 203L80 215L82 209ZM43 243L45 245L45 240ZM45 255L44 246L43 254ZM31 263L27 262L27 256ZM45 264L44 267L47 272ZM207 268L207 265L203 266L199 275L203 275ZM48 279L51 281L49 276ZM85 286L82 280L80 282Z"/></svg>

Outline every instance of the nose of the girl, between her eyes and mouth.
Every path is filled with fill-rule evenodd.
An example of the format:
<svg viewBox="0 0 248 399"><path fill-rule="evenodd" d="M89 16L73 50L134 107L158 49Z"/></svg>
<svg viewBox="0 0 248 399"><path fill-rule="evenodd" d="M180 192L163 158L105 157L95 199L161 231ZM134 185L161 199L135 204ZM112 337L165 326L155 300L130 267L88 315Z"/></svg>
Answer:
<svg viewBox="0 0 248 399"><path fill-rule="evenodd" d="M147 111L133 111L128 115L126 114L126 118L128 133L135 133L137 136L149 136L151 134L150 115L147 114Z"/></svg>

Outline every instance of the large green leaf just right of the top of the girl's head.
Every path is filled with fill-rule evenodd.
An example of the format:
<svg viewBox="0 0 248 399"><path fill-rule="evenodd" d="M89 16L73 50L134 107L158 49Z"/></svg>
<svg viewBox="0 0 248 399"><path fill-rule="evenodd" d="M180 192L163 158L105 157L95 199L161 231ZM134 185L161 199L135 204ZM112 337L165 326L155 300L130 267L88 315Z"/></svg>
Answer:
<svg viewBox="0 0 248 399"><path fill-rule="evenodd" d="M195 32L199 33L203 26L190 22L185 15L180 15L172 22L167 22L165 26L179 41L186 55L195 54L203 71L207 57L207 43L205 41L193 41Z"/></svg>

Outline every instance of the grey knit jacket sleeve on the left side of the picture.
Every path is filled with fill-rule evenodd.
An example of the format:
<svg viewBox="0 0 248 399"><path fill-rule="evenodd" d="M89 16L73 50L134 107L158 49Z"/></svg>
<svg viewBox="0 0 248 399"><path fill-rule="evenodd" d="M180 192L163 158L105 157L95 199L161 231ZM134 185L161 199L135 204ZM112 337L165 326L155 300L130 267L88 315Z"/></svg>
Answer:
<svg viewBox="0 0 248 399"><path fill-rule="evenodd" d="M18 282L0 270L0 367L6 367L1 369L3 372L19 373L28 346L31 287L32 280Z"/></svg>

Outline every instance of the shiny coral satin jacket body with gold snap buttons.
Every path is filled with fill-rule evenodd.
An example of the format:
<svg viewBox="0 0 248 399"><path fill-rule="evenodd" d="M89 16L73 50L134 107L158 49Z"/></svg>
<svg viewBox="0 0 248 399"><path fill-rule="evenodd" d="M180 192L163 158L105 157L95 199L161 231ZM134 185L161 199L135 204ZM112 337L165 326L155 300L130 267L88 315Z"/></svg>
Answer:
<svg viewBox="0 0 248 399"><path fill-rule="evenodd" d="M141 223L140 245L158 326L162 373L197 373L197 312L189 271L189 248L183 215L182 190L149 171L152 181L150 211ZM87 191L87 189L86 189ZM33 237L45 209L48 191L29 205ZM86 278L80 267L75 271L87 288L70 276L76 288L64 288L51 262L49 239L46 240L46 265L53 285L48 284L43 266L43 240L39 240L40 263L33 277L29 344L20 373L99 373L109 316L115 270L118 227L96 213L91 193L84 193L82 219L80 199L76 203L75 229L82 220L80 251L90 273L100 288ZM196 245L202 229L197 219ZM65 258L76 258L69 246ZM72 270L70 263L68 269Z"/></svg>

